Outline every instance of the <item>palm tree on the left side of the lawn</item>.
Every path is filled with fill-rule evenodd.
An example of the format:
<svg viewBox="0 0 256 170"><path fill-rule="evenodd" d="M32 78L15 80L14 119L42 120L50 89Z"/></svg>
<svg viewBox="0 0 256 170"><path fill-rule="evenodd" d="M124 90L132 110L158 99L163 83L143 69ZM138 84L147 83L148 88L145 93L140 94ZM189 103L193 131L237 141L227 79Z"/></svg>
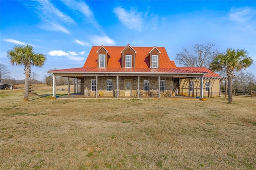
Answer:
<svg viewBox="0 0 256 170"><path fill-rule="evenodd" d="M42 53L34 52L32 45L15 45L13 49L7 51L7 57L12 65L24 65L25 71L25 92L24 101L28 101L29 77L31 73L31 65L42 67L46 61L46 57Z"/></svg>

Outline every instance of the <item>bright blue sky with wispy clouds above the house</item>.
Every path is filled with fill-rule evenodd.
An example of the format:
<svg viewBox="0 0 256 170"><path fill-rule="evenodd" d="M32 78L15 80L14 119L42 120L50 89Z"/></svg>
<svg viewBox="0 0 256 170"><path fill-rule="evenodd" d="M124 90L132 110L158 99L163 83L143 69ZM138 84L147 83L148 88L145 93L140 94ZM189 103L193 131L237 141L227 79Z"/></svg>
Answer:
<svg viewBox="0 0 256 170"><path fill-rule="evenodd" d="M195 43L244 48L256 74L256 1L0 1L0 59L11 78L25 79L6 51L31 44L44 53L41 80L54 68L82 67L93 45L165 47L171 60ZM178 66L178 64L176 63Z"/></svg>

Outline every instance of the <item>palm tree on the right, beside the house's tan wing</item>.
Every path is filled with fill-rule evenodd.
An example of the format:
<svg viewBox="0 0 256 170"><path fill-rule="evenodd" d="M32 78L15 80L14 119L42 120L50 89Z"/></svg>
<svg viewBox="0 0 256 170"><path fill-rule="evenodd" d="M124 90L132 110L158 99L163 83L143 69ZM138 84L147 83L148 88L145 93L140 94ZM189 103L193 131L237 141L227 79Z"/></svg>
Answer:
<svg viewBox="0 0 256 170"><path fill-rule="evenodd" d="M212 71L225 71L228 76L228 103L232 103L232 78L236 71L246 69L253 63L251 57L248 57L248 52L245 49L228 48L224 53L218 53L212 63L210 69Z"/></svg>

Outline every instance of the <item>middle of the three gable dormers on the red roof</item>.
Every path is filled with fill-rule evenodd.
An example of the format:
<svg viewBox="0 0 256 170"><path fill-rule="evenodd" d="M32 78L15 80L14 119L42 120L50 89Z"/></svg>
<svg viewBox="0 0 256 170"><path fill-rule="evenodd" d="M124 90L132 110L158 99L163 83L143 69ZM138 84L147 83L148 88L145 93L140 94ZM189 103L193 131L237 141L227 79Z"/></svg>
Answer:
<svg viewBox="0 0 256 170"><path fill-rule="evenodd" d="M122 51L122 68L135 68L136 51L128 44Z"/></svg>

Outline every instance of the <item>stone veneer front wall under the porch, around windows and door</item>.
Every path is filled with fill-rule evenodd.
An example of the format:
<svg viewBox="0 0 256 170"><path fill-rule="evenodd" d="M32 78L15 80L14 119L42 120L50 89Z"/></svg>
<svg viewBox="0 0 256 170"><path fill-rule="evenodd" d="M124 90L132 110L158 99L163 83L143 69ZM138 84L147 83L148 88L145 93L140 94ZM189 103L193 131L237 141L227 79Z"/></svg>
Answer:
<svg viewBox="0 0 256 170"><path fill-rule="evenodd" d="M96 76L86 76L81 83L81 93L84 94L84 89L88 87L90 95L95 96L95 91L91 91L91 80L96 79ZM107 79L112 79L112 91L107 91ZM136 90L138 89L138 77L121 77L119 76L119 96L124 96L124 80L132 80L132 96L136 96ZM144 80L149 80L149 89L158 89L158 77L144 77L140 76L140 89L143 90L143 96L148 96L149 92L144 92ZM165 80L165 90L174 90L178 88L178 79L172 79L172 77L161 77L161 80ZM116 76L98 76L98 95L99 92L103 92L104 96L116 96ZM166 92L161 92L163 96Z"/></svg>

